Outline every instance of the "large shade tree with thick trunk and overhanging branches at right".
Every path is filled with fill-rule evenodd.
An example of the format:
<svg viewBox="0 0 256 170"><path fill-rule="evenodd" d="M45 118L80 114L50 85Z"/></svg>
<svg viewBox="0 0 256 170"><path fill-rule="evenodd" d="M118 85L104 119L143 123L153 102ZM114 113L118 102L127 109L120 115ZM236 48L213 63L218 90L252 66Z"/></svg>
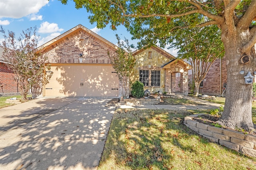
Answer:
<svg viewBox="0 0 256 170"><path fill-rule="evenodd" d="M67 0L60 0L66 4ZM239 74L256 70L256 0L73 0L98 28L124 25L141 44L166 45L176 29L218 25L224 44L227 87L219 123L254 129L252 84Z"/></svg>

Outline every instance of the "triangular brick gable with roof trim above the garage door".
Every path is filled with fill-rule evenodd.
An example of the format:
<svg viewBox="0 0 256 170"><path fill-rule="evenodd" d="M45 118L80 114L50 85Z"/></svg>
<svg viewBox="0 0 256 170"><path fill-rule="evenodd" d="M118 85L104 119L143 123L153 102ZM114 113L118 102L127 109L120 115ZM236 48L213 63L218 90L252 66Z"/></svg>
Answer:
<svg viewBox="0 0 256 170"><path fill-rule="evenodd" d="M78 25L42 45L49 63L110 63L108 52L118 48L106 39ZM81 55L82 54L82 55Z"/></svg>

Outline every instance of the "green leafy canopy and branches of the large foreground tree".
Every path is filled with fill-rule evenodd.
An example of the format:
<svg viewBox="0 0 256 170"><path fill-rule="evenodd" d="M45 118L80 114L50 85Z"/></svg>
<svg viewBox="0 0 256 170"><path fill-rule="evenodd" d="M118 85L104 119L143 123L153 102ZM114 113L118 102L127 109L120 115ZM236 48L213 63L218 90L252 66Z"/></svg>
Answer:
<svg viewBox="0 0 256 170"><path fill-rule="evenodd" d="M68 0L60 0L67 4ZM256 17L256 2L253 0L73 0L76 8L86 8L92 15L91 23L98 28L110 25L124 25L140 39L141 45L155 45L160 41L166 45L170 32L177 28L203 27L206 25L225 24L226 32L235 27L249 28ZM255 21L254 21L255 23ZM223 29L222 29L223 31ZM256 27L250 28L252 35ZM250 45L256 43L256 36Z"/></svg>

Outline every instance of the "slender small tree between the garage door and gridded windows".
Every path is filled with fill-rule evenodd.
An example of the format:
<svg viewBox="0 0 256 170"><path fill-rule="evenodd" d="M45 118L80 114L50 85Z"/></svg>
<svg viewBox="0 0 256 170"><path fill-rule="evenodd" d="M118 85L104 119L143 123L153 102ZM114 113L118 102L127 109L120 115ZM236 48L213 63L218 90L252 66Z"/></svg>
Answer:
<svg viewBox="0 0 256 170"><path fill-rule="evenodd" d="M131 48L132 45L129 45L128 39L125 38L124 41L120 40L120 37L116 34L116 39L118 40L118 49L114 54L108 56L110 58L110 63L113 68L116 70L119 82L122 86L122 97L129 97L129 81L131 72L135 66L135 57L132 55ZM127 52L126 52L127 51Z"/></svg>

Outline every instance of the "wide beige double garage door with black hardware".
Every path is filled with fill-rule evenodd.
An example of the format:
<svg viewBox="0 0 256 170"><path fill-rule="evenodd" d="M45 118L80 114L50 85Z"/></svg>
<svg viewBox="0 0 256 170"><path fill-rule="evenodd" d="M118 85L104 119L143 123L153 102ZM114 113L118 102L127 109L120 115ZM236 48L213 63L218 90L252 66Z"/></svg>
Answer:
<svg viewBox="0 0 256 170"><path fill-rule="evenodd" d="M117 97L118 77L111 65L54 65L44 96Z"/></svg>

